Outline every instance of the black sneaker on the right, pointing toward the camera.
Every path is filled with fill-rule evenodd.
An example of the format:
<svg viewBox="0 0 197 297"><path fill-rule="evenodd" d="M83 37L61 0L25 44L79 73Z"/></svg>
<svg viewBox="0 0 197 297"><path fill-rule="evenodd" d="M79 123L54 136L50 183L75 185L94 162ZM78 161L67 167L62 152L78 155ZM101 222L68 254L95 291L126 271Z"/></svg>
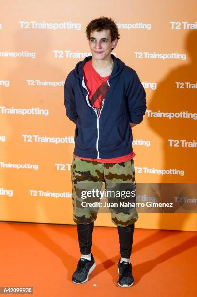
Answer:
<svg viewBox="0 0 197 297"><path fill-rule="evenodd" d="M131 287L134 283L134 278L132 275L132 266L131 263L123 261L121 263L121 259L119 259L118 263L118 274L119 280L116 285L120 287Z"/></svg>

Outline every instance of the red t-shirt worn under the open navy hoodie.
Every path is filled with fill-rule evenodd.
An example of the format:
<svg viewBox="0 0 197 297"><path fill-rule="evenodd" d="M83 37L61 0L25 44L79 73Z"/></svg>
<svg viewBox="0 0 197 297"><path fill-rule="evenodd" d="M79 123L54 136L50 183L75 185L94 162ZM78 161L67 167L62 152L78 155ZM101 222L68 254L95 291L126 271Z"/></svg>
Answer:
<svg viewBox="0 0 197 297"><path fill-rule="evenodd" d="M97 115L100 116L100 111L104 104L106 93L109 89L107 80L110 75L101 77L92 66L92 59L86 62L83 66L83 73L85 84L89 92L88 99L91 106L94 107L97 112ZM131 160L135 155L136 154L132 152L125 156L110 159L83 158L76 155L74 156L83 160L97 161L101 163L121 163Z"/></svg>

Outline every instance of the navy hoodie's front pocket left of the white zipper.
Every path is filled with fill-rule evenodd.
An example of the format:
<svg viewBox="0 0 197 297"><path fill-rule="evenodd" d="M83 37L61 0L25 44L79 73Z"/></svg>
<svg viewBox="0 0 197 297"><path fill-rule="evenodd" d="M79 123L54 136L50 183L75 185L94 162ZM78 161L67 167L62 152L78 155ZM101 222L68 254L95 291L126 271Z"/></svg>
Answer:
<svg viewBox="0 0 197 297"><path fill-rule="evenodd" d="M82 128L76 134L76 145L81 149L95 149L97 139L97 129Z"/></svg>

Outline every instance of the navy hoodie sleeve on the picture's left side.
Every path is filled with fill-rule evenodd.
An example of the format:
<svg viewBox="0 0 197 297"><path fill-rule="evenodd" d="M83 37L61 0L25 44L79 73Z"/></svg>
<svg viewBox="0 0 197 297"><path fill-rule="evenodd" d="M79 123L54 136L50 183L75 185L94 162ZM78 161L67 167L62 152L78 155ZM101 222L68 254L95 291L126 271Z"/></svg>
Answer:
<svg viewBox="0 0 197 297"><path fill-rule="evenodd" d="M71 73L69 73L69 75L67 76L64 84L64 105L66 108L67 117L76 124L78 114L76 112L75 94L71 79Z"/></svg>

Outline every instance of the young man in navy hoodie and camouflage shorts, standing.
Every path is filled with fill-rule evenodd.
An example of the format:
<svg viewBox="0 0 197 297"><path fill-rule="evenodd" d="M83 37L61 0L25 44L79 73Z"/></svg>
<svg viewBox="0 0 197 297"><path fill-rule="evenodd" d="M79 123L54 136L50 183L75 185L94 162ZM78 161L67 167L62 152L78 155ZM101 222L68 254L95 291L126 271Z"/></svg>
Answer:
<svg viewBox="0 0 197 297"><path fill-rule="evenodd" d="M143 120L146 110L145 90L136 71L111 54L120 38L115 22L107 17L94 19L86 27L86 36L92 56L76 64L64 85L66 115L76 124L71 167L73 219L81 252L72 278L76 284L88 281L96 266L91 246L98 207L93 211L91 206L82 206L82 190L100 190L102 182L110 190L117 185L136 190L131 128ZM117 285L130 287L138 214L132 208L115 210L111 216L120 242Z"/></svg>

